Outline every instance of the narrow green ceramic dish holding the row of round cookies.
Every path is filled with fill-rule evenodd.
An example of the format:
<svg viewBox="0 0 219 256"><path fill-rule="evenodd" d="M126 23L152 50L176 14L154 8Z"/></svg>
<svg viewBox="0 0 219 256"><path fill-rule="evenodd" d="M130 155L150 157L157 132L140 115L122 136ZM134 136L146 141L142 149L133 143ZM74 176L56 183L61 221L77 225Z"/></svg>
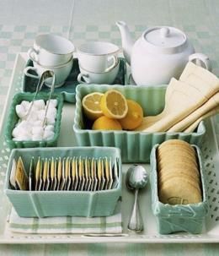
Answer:
<svg viewBox="0 0 219 256"><path fill-rule="evenodd" d="M158 231L160 234L169 234L176 231L186 231L192 234L199 234L202 231L206 215L208 213L208 202L206 193L206 175L200 155L200 149L195 148L199 169L200 184L202 190L202 202L198 204L163 204L158 198L158 175L156 144L151 154L151 188L152 188L152 212L157 217Z"/></svg>

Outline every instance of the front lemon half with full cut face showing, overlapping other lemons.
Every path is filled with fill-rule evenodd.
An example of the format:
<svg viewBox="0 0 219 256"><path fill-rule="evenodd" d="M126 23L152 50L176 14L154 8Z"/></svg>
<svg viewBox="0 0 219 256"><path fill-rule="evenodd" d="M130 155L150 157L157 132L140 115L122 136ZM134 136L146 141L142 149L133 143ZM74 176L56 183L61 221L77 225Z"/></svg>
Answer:
<svg viewBox="0 0 219 256"><path fill-rule="evenodd" d="M100 101L100 107L104 116L120 119L126 117L128 105L124 95L118 90L108 90Z"/></svg>

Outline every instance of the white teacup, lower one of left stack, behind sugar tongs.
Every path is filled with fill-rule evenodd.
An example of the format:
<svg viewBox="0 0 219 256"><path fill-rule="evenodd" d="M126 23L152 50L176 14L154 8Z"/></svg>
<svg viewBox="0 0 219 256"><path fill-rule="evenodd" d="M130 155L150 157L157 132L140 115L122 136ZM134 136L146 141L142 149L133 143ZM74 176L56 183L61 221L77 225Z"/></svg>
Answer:
<svg viewBox="0 0 219 256"><path fill-rule="evenodd" d="M65 63L60 66L56 66L56 67L46 67L46 66L41 66L35 62L33 62L33 63L34 63L34 67L29 66L29 67L24 68L24 74L26 76L29 76L30 78L40 79L41 75L46 70L51 70L56 75L55 87L57 88L65 83L67 77L71 73L72 65L73 65L73 57L70 59L70 61L68 61L68 63ZM29 71L31 71L31 70L35 71L36 75L30 74ZM51 78L45 79L45 85L51 87L51 84L52 84Z"/></svg>

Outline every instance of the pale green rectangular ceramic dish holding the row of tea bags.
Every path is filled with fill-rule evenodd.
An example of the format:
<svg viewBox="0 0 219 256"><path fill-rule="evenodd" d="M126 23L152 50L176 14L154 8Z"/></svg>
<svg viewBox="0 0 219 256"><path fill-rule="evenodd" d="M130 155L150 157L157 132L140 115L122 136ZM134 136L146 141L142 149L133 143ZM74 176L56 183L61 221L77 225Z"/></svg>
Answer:
<svg viewBox="0 0 219 256"><path fill-rule="evenodd" d="M22 157L24 167L31 157L111 157L118 159L119 182L116 188L99 191L22 191L14 190L9 182L13 159ZM27 173L29 176L29 173ZM8 161L4 191L13 204L14 209L22 217L46 216L106 216L112 215L121 196L121 160L120 150L116 148L72 147L72 148L39 148L14 149Z"/></svg>

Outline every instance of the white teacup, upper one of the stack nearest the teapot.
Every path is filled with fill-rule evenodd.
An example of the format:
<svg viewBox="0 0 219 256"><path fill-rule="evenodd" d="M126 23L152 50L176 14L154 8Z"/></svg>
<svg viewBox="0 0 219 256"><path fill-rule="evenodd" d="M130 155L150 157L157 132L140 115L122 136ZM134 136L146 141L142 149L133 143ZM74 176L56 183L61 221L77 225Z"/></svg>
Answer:
<svg viewBox="0 0 219 256"><path fill-rule="evenodd" d="M89 41L77 47L81 67L91 72L107 72L115 67L119 46L106 41Z"/></svg>

